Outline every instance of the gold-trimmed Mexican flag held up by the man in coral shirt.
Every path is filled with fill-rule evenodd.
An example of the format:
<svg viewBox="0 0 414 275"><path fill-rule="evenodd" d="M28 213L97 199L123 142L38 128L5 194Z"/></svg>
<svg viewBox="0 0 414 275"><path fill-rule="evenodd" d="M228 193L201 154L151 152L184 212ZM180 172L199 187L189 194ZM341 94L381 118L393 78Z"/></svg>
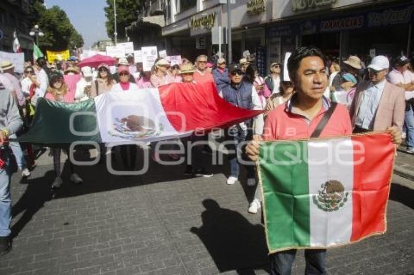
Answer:
<svg viewBox="0 0 414 275"><path fill-rule="evenodd" d="M263 142L258 174L270 253L384 233L394 156L387 133Z"/></svg>

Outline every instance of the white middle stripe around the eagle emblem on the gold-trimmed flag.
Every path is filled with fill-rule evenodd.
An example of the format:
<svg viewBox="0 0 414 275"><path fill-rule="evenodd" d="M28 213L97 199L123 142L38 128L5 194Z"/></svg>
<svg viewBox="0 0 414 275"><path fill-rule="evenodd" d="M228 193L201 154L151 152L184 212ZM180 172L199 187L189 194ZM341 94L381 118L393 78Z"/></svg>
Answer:
<svg viewBox="0 0 414 275"><path fill-rule="evenodd" d="M308 143L311 246L326 246L351 239L354 180L352 152L352 140L348 137ZM345 204L332 212L320 209L313 199L323 189L321 185L329 180L338 180L345 192L348 192Z"/></svg>

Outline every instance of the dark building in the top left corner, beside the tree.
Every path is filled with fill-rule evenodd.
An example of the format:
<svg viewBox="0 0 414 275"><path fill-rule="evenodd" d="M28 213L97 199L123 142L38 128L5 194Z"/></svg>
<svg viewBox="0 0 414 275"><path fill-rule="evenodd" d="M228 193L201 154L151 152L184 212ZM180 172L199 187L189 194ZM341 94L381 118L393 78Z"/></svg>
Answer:
<svg viewBox="0 0 414 275"><path fill-rule="evenodd" d="M13 33L17 31L20 47L29 59L33 50L33 37L29 35L33 19L32 0L1 0L0 51L13 52Z"/></svg>

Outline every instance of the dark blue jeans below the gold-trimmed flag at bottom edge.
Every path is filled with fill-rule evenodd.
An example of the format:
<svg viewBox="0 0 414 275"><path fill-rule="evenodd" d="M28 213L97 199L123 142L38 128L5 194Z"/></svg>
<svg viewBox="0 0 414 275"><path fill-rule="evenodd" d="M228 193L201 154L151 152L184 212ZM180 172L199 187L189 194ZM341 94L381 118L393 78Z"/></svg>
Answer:
<svg viewBox="0 0 414 275"><path fill-rule="evenodd" d="M270 274L290 275L296 249L270 254ZM326 249L305 249L306 275L325 275Z"/></svg>

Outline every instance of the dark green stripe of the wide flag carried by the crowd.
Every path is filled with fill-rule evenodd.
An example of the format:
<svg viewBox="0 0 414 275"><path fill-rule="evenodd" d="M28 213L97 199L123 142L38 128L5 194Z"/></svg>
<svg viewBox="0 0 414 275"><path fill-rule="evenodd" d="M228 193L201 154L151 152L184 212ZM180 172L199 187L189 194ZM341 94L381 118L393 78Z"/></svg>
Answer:
<svg viewBox="0 0 414 275"><path fill-rule="evenodd" d="M39 98L32 125L18 141L45 144L82 140L101 142L93 99L71 104Z"/></svg>

